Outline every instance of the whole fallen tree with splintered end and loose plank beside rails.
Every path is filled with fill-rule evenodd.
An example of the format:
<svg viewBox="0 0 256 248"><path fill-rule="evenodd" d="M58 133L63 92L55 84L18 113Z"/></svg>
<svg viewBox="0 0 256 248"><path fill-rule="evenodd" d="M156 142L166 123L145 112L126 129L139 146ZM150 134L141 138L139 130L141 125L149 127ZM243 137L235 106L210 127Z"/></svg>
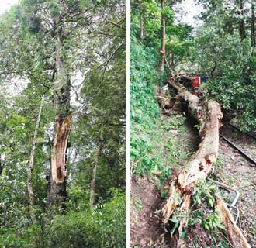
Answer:
<svg viewBox="0 0 256 248"><path fill-rule="evenodd" d="M218 156L219 129L222 125L221 119L223 114L218 102L207 99L202 100L192 95L189 91L185 91L185 88L179 86L174 78L168 81L168 85L178 91L175 100L179 99L185 102L188 105L189 114L199 122L199 136L201 137L199 150L182 171L178 173L175 180L171 182L168 198L161 208L164 226L168 225L171 216L175 214L175 210L178 209L184 216L179 222L178 232L175 236L171 236L174 246L180 248L185 247L185 239L182 236L182 232L185 231L188 225L189 208L195 184L200 179L206 179L209 172L213 169ZM166 94L166 89L164 94ZM167 101L164 99L162 102L166 105ZM159 103L161 105L161 102ZM166 111L165 105L161 106L162 111ZM230 245L236 248L250 247L235 224L227 205L218 195L216 195L215 205L215 210L217 209L220 210L221 220L227 231Z"/></svg>

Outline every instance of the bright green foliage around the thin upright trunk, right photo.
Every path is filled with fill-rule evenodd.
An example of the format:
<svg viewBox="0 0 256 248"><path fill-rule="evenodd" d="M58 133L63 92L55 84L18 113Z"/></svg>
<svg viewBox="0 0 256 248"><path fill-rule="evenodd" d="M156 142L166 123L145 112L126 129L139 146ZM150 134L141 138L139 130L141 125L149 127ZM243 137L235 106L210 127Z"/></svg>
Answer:
<svg viewBox="0 0 256 248"><path fill-rule="evenodd" d="M161 48L161 12L165 17L166 30L166 71L177 73L186 62L189 48L192 47L192 27L184 23L175 23L175 5L181 1L166 1L163 11L160 1L131 2L133 20L131 31L140 39L140 17L144 19L145 37L141 40L146 47L156 53L158 60Z"/></svg>

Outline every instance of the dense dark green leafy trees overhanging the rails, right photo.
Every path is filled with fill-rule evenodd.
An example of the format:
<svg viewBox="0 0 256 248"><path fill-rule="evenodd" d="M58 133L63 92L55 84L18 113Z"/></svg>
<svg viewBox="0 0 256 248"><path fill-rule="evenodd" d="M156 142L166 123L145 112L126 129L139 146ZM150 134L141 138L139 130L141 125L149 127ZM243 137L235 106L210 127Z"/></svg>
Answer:
<svg viewBox="0 0 256 248"><path fill-rule="evenodd" d="M255 129L255 60L250 36L241 39L241 16L233 5L202 4L204 23L195 36L190 59L196 67L190 71L211 77L205 88L209 98L220 103L225 120L235 118L240 129Z"/></svg>

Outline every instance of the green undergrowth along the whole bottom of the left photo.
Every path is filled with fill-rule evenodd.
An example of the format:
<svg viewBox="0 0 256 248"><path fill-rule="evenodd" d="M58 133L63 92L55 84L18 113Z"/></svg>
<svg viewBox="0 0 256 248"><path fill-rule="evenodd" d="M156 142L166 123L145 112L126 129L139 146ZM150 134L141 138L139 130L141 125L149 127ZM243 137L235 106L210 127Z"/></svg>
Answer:
<svg viewBox="0 0 256 248"><path fill-rule="evenodd" d="M74 188L72 191L68 199L72 205L67 202L66 215L50 219L38 209L40 225L28 227L29 219L22 217L20 212L19 223L17 219L17 223L10 223L8 227L0 226L0 247L125 247L126 194L112 189L112 198L92 209L81 191Z"/></svg>

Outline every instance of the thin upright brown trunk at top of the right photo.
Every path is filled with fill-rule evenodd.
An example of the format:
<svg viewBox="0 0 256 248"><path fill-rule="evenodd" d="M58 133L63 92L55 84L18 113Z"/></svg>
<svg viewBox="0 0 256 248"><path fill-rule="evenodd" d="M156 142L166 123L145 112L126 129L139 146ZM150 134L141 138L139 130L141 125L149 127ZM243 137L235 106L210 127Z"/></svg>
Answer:
<svg viewBox="0 0 256 248"><path fill-rule="evenodd" d="M160 63L159 74L164 73L164 61L165 61L165 16L164 16L164 1L161 0L161 50L160 50Z"/></svg>

